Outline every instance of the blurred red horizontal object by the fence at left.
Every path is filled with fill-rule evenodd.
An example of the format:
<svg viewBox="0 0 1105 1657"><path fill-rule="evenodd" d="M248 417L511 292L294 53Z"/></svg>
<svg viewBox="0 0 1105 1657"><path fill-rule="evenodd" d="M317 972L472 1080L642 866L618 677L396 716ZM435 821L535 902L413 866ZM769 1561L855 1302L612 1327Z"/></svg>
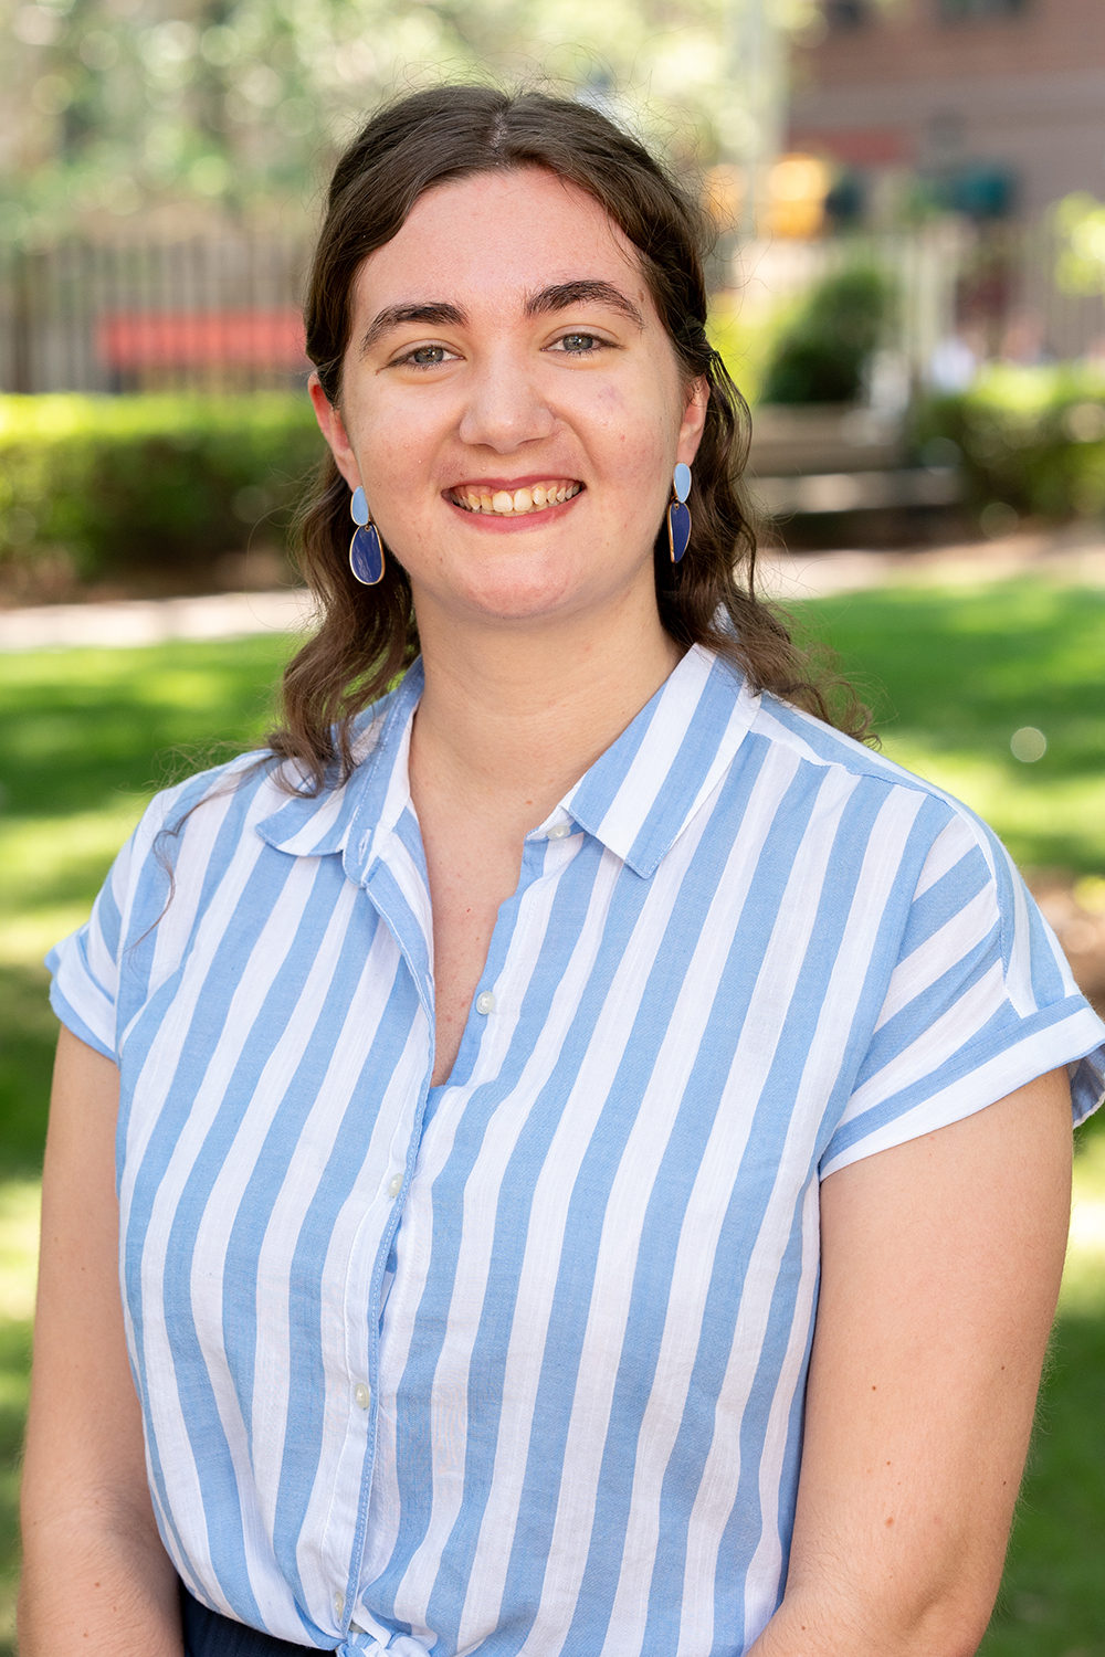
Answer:
<svg viewBox="0 0 1105 1657"><path fill-rule="evenodd" d="M96 350L116 371L141 368L303 368L303 318L275 310L123 312L99 318Z"/></svg>

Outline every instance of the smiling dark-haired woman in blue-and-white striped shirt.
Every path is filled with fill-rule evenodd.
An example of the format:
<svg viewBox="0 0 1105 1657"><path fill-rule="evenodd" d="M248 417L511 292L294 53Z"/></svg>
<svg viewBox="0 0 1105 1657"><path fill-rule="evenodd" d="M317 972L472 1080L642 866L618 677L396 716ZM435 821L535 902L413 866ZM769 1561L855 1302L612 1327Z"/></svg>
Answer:
<svg viewBox="0 0 1105 1657"><path fill-rule="evenodd" d="M53 958L23 1657L974 1650L1102 1026L732 575L704 303L583 106L340 162L320 633Z"/></svg>

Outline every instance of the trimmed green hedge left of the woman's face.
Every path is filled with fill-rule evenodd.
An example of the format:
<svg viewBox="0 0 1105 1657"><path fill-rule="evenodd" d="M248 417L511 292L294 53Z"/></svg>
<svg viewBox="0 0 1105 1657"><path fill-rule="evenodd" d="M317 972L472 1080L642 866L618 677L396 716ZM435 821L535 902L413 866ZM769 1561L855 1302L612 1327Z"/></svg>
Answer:
<svg viewBox="0 0 1105 1657"><path fill-rule="evenodd" d="M172 577L280 547L320 452L305 393L0 396L0 577L58 555L84 582Z"/></svg>

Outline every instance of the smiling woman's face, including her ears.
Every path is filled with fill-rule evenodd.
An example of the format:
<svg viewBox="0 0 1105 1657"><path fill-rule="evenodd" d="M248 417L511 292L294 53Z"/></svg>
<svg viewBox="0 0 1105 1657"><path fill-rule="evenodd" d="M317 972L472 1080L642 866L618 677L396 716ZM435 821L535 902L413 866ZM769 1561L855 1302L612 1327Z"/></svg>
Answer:
<svg viewBox="0 0 1105 1657"><path fill-rule="evenodd" d="M353 300L340 409L311 396L419 613L537 620L653 592L706 386L688 399L593 197L537 167L437 186Z"/></svg>

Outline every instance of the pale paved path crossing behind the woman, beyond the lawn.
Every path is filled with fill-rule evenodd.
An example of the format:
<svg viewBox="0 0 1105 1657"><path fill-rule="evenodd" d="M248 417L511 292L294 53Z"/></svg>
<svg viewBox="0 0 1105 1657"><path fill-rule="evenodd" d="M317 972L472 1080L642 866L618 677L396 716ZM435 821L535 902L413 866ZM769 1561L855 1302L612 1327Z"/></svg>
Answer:
<svg viewBox="0 0 1105 1657"><path fill-rule="evenodd" d="M775 552L759 558L760 585L780 600L825 598L865 587L974 585L1045 575L1105 587L1105 534L1082 527L931 552ZM41 605L0 610L0 653L73 646L159 645L171 638L242 638L310 625L303 588L215 593L210 598L131 598L121 603Z"/></svg>

